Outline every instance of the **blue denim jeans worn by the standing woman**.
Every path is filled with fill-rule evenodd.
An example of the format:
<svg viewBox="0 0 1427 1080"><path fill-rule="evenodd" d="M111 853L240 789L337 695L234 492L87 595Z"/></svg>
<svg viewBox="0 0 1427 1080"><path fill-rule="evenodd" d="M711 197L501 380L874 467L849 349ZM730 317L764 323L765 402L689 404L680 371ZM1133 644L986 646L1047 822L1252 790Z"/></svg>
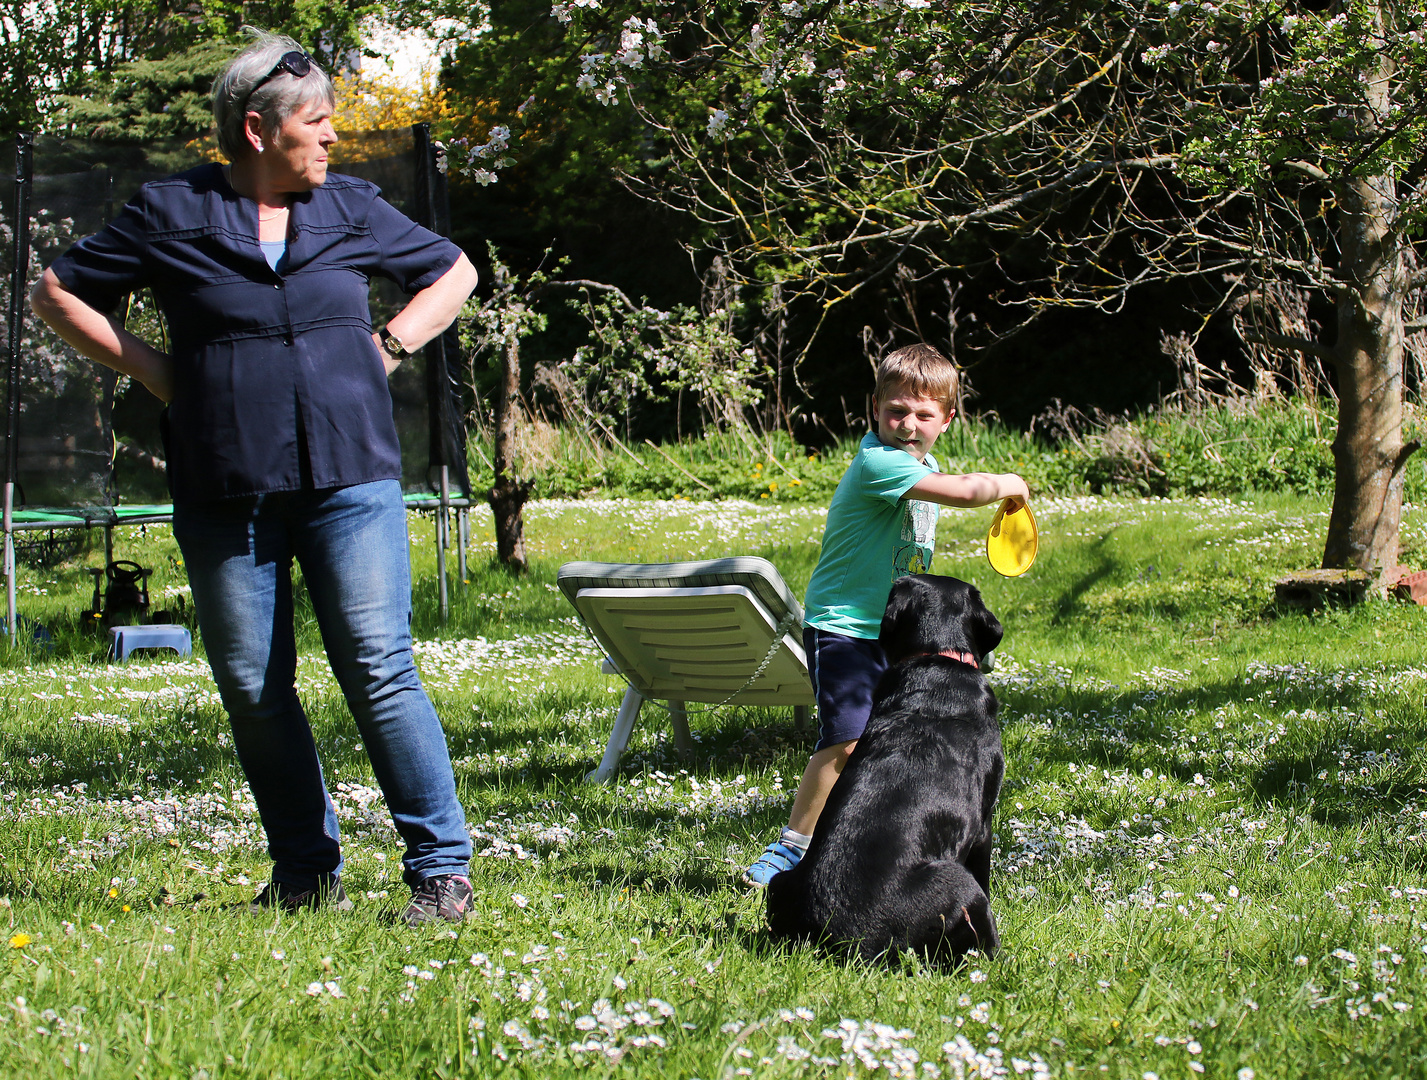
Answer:
<svg viewBox="0 0 1427 1080"><path fill-rule="evenodd" d="M394 481L174 506L213 678L257 802L273 880L341 873L337 810L297 696L293 559L397 832L407 885L465 873L471 837L441 720L411 655L407 511Z"/></svg>

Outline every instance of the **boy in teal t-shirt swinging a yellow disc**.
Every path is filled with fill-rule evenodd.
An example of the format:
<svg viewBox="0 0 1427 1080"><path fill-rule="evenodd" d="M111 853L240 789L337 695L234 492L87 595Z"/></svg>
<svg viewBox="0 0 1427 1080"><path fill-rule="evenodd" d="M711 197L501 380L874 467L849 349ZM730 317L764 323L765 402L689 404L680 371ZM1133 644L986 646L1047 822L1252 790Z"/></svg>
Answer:
<svg viewBox="0 0 1427 1080"><path fill-rule="evenodd" d="M930 345L908 345L878 365L875 432L838 484L822 554L803 605L803 648L818 695L818 746L798 785L788 826L743 882L763 887L791 870L812 840L832 785L868 725L886 659L878 645L896 578L932 565L938 504L985 506L1027 499L1026 481L1005 472L938 472L929 451L956 414L956 368Z"/></svg>

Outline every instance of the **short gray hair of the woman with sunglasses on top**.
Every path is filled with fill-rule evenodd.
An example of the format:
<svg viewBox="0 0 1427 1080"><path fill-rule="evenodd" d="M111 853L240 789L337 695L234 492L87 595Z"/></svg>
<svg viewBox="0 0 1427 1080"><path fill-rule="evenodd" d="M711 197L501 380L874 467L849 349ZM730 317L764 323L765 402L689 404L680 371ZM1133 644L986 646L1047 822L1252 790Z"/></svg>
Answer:
<svg viewBox="0 0 1427 1080"><path fill-rule="evenodd" d="M218 150L228 161L237 161L251 150L244 133L248 113L263 117L263 130L267 133L305 104L323 101L331 106L337 100L332 80L315 61L313 70L303 78L288 71L278 71L267 78L288 53L307 54L307 50L291 37L251 26L243 27L243 33L254 39L253 44L238 53L213 84L213 120L218 128Z"/></svg>

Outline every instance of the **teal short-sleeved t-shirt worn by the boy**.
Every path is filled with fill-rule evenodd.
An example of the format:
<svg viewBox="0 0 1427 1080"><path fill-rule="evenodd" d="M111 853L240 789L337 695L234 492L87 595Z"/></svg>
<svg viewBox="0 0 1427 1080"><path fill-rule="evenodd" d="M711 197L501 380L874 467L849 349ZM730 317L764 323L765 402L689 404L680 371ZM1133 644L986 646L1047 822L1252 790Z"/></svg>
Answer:
<svg viewBox="0 0 1427 1080"><path fill-rule="evenodd" d="M903 499L936 472L930 454L918 461L868 434L828 506L818 568L808 582L805 621L849 638L876 638L892 582L932 568L935 502Z"/></svg>

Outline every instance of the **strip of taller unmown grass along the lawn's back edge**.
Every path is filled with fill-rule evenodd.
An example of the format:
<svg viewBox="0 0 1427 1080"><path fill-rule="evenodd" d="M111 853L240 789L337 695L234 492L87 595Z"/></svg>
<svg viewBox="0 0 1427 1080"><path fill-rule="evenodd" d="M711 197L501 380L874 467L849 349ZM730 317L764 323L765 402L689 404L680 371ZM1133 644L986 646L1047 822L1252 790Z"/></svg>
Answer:
<svg viewBox="0 0 1427 1080"><path fill-rule="evenodd" d="M1047 425L1016 431L995 419L956 419L938 441L948 471L1020 472L1040 495L1330 495L1331 401L1229 402L1183 411L1154 408L1132 417L1083 421L1075 431ZM1408 408L1407 438L1420 435ZM1047 431L1055 434L1050 438ZM786 432L725 431L676 445L618 445L581 429L531 425L521 472L547 498L594 491L631 498L743 498L823 502L858 438L803 448ZM489 486L489 448L472 444L478 488ZM1427 496L1427 472L1411 462L1406 492Z"/></svg>

